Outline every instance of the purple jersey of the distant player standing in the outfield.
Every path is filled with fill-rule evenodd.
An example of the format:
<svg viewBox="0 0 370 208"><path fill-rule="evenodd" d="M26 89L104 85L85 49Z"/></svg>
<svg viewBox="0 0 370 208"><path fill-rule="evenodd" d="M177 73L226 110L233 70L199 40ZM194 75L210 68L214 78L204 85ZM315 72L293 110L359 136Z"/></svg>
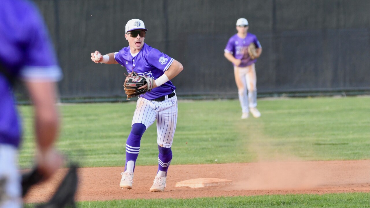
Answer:
<svg viewBox="0 0 370 208"><path fill-rule="evenodd" d="M257 37L252 33L247 33L245 38L240 38L238 34L231 36L226 44L225 52L231 53L236 59L242 60L239 67L249 66L257 61L257 59L251 59L248 54L249 44L254 43L256 48L260 48L261 44L257 40Z"/></svg>

